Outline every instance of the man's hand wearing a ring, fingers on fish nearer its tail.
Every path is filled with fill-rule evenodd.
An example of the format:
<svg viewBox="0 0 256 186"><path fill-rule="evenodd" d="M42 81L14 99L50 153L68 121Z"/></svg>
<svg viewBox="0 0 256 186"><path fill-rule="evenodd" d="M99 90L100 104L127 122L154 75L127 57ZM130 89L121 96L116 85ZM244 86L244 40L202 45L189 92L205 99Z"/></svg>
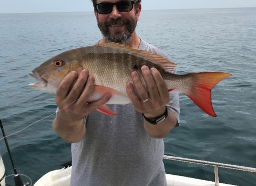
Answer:
<svg viewBox="0 0 256 186"><path fill-rule="evenodd" d="M154 67L149 69L147 66L142 66L141 71L148 91L143 86L137 72L132 72L131 77L138 96L130 82L126 84L126 91L138 112L143 113L148 119L155 119L164 114L165 105L170 101L167 85Z"/></svg>

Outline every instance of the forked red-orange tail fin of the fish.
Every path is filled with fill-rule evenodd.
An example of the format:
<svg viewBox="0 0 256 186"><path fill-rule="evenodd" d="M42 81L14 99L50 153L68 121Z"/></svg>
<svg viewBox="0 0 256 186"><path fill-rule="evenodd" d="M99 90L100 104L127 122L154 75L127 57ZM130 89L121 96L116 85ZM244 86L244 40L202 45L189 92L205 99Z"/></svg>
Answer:
<svg viewBox="0 0 256 186"><path fill-rule="evenodd" d="M231 74L223 72L200 72L187 74L193 78L193 86L188 92L184 92L205 113L216 117L213 111L211 90L221 80Z"/></svg>

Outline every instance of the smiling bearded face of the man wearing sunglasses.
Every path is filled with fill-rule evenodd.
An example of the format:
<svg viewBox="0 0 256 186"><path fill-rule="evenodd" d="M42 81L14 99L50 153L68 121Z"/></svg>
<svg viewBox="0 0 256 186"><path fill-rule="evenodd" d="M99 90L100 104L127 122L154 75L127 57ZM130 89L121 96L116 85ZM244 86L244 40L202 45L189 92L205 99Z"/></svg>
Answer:
<svg viewBox="0 0 256 186"><path fill-rule="evenodd" d="M106 2L99 0L97 3ZM109 3L116 3L117 0L108 0ZM134 32L140 14L140 8L133 9L130 12L119 12L116 6L109 14L99 14L94 10L98 27L108 42L125 43Z"/></svg>

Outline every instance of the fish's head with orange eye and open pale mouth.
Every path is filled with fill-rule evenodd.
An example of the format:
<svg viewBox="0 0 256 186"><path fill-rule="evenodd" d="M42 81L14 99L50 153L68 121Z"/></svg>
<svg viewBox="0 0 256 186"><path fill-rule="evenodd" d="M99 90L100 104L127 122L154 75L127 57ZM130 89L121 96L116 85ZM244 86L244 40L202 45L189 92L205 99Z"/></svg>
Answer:
<svg viewBox="0 0 256 186"><path fill-rule="evenodd" d="M29 75L35 78L37 82L30 83L29 88L56 93L60 82L69 72L77 71L79 74L83 70L80 63L74 57L74 54L68 51L36 67Z"/></svg>

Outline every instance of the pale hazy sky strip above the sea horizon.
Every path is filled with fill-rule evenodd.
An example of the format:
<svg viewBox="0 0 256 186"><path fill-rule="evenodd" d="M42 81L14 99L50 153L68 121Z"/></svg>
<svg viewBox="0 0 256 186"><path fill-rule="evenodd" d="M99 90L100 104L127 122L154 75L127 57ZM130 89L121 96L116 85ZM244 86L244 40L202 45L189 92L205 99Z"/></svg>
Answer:
<svg viewBox="0 0 256 186"><path fill-rule="evenodd" d="M142 10L256 7L256 0L142 0ZM0 13L87 12L91 0L0 0Z"/></svg>

